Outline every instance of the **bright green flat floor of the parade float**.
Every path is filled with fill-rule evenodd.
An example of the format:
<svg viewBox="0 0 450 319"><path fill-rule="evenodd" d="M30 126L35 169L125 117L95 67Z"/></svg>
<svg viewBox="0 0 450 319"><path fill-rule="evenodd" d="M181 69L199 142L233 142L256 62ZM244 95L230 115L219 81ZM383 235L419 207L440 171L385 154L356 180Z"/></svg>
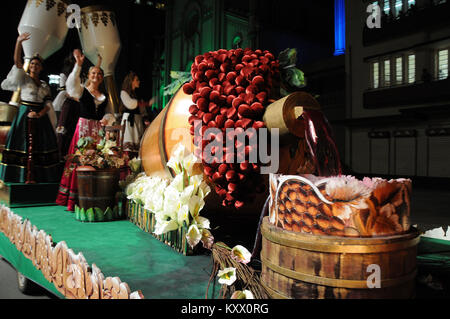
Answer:
<svg viewBox="0 0 450 319"><path fill-rule="evenodd" d="M127 220L81 223L61 206L11 210L50 234L55 243L64 240L75 253L82 252L88 264L95 263L105 277L117 276L131 291L141 290L145 298L205 298L211 256L183 256ZM3 233L0 255L25 276L61 296Z"/></svg>

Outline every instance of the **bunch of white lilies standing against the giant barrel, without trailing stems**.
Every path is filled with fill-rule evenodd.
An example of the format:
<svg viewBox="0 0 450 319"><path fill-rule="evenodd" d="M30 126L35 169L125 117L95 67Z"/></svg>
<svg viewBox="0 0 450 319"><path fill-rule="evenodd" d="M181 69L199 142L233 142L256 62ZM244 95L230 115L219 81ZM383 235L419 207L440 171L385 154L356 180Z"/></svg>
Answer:
<svg viewBox="0 0 450 319"><path fill-rule="evenodd" d="M214 242L210 222L200 216L200 211L211 189L203 175L193 174L196 162L197 158L179 144L167 163L176 174L172 180L140 173L126 187L125 193L128 199L155 214L155 235L186 226L186 239L191 247L201 241L203 246L210 248Z"/></svg>

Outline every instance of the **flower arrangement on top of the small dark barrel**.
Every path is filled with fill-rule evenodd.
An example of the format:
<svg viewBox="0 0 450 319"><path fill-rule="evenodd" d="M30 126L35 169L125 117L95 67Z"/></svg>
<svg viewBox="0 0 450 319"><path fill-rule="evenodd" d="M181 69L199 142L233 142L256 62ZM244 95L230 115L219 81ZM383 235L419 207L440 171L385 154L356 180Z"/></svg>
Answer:
<svg viewBox="0 0 450 319"><path fill-rule="evenodd" d="M78 140L75 153L69 154L67 159L74 164L70 167L72 170L76 165L104 169L124 166L128 156L121 151L114 140L103 137L97 143L92 137L86 136Z"/></svg>

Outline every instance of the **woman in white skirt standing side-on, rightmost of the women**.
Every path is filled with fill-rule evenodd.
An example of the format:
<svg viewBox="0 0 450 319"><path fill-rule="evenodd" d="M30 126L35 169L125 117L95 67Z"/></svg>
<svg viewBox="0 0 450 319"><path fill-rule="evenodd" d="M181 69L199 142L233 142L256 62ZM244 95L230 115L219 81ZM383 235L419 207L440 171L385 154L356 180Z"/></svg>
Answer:
<svg viewBox="0 0 450 319"><path fill-rule="evenodd" d="M142 116L146 113L145 108L152 103L139 100L136 89L140 86L140 80L136 73L131 71L123 80L122 90L120 91L122 115L122 126L125 127L123 133L123 150L128 152L130 158L137 155L144 134L144 123Z"/></svg>

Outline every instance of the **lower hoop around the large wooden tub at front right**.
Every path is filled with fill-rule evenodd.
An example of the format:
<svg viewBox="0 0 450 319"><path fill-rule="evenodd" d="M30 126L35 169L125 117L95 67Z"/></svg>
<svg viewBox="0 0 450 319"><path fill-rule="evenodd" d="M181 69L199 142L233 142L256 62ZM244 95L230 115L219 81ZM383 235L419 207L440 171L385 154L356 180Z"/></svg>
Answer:
<svg viewBox="0 0 450 319"><path fill-rule="evenodd" d="M271 270L284 275L288 278L300 280L303 282L307 282L310 284L329 286L335 288L349 288L349 289L370 289L367 286L367 280L347 280L347 279L335 279L335 278L327 278L327 277L319 277L309 274L303 274L297 271L293 271L290 269L286 269L280 267L278 265L273 264L269 261L265 256L261 254L261 262L270 268ZM381 288L398 286L400 284L406 283L415 278L417 275L417 269L413 272L409 273L406 276L392 278L392 279L383 279L381 280ZM375 289L375 288L374 288Z"/></svg>

